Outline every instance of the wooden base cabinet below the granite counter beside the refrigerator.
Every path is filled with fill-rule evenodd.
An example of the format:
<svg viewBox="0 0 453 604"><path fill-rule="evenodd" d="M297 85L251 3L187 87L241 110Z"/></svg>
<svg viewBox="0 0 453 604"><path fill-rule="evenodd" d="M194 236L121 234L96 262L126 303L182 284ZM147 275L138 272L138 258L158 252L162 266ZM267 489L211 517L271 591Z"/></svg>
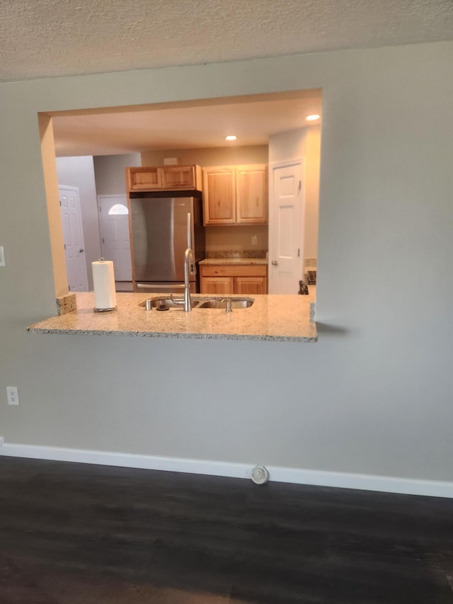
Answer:
<svg viewBox="0 0 453 604"><path fill-rule="evenodd" d="M202 294L266 294L268 267L263 264L200 265L200 289Z"/></svg>

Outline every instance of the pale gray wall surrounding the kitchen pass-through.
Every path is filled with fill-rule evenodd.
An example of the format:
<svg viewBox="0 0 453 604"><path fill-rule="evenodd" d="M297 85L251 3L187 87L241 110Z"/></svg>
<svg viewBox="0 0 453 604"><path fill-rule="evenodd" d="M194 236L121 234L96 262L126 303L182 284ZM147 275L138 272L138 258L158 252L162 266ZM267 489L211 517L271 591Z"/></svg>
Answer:
<svg viewBox="0 0 453 604"><path fill-rule="evenodd" d="M1 84L6 441L451 480L452 64L442 42ZM318 87L319 343L26 333L55 314L38 111Z"/></svg>

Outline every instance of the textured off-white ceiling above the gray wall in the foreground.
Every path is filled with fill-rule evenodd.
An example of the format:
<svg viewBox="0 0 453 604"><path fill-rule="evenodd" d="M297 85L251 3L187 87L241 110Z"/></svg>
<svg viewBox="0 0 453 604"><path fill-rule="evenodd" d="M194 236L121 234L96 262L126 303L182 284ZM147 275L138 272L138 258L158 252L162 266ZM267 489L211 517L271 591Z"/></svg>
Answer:
<svg viewBox="0 0 453 604"><path fill-rule="evenodd" d="M453 0L0 0L0 81L453 38Z"/></svg>

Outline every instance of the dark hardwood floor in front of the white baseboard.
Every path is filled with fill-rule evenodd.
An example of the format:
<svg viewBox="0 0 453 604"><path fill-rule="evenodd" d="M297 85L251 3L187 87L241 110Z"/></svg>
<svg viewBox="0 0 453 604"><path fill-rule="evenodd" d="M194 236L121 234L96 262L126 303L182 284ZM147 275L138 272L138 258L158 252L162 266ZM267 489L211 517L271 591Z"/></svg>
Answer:
<svg viewBox="0 0 453 604"><path fill-rule="evenodd" d="M0 604L453 604L452 508L0 457Z"/></svg>

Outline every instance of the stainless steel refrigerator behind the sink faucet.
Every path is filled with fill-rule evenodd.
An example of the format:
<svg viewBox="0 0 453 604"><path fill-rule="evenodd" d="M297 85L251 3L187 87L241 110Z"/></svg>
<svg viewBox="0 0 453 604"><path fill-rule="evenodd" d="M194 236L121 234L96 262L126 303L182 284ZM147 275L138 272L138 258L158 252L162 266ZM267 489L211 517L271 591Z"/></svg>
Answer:
<svg viewBox="0 0 453 604"><path fill-rule="evenodd" d="M205 258L201 193L131 193L132 279L136 292L183 292L184 252L190 247L196 275L190 290L200 291L198 263Z"/></svg>

